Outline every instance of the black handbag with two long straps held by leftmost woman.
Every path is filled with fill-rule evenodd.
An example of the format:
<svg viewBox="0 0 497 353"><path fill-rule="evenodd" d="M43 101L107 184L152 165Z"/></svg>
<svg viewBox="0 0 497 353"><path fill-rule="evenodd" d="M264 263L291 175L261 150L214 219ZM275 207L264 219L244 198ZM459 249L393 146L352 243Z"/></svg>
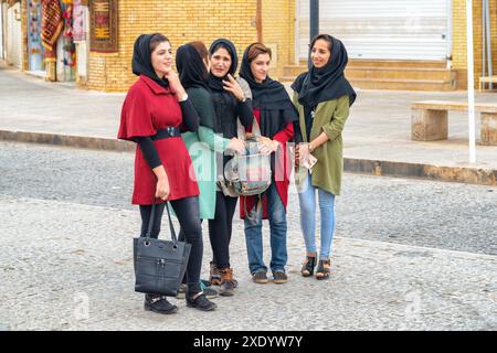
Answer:
<svg viewBox="0 0 497 353"><path fill-rule="evenodd" d="M166 210L171 240L150 237L156 213L155 201L146 236L134 238L135 291L176 297L187 270L191 244L178 242L168 204Z"/></svg>

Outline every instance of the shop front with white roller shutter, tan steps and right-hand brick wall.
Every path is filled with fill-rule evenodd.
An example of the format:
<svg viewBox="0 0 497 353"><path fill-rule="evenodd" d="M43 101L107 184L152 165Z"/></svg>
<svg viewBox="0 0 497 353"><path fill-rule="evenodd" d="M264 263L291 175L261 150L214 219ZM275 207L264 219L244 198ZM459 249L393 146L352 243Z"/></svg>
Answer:
<svg viewBox="0 0 497 353"><path fill-rule="evenodd" d="M295 61L302 63L308 55L309 1L296 0L296 7ZM320 32L345 43L347 73L356 86L467 87L466 0L320 0L319 18ZM473 23L475 77L480 77L489 73L489 55L494 73L497 68L497 0L474 0Z"/></svg>

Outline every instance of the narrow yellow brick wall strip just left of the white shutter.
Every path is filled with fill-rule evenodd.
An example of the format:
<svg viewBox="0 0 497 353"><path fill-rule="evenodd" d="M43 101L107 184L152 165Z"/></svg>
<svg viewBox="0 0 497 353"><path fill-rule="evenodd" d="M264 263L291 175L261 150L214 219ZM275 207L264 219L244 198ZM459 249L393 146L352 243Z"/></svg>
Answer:
<svg viewBox="0 0 497 353"><path fill-rule="evenodd" d="M295 0L262 2L262 39L274 52L269 75L281 78L283 66L295 62Z"/></svg>

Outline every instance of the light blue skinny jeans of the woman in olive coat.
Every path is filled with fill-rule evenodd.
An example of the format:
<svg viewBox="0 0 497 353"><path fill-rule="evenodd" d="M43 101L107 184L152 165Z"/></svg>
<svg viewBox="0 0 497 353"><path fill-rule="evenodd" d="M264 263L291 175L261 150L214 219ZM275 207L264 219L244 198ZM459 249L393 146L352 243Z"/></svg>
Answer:
<svg viewBox="0 0 497 353"><path fill-rule="evenodd" d="M321 213L321 249L320 259L329 258L331 240L335 231L335 195L311 184L311 175L308 174L304 189L298 194L300 202L300 227L304 233L304 242L308 253L316 253L316 189L319 195L319 210Z"/></svg>

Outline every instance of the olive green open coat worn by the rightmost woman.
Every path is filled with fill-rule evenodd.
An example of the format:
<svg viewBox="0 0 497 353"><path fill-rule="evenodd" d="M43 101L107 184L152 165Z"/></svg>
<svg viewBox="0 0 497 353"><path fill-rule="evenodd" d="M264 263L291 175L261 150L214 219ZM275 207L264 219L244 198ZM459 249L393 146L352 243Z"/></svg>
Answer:
<svg viewBox="0 0 497 353"><path fill-rule="evenodd" d="M298 94L294 93L293 101L298 110L300 130L304 142L313 141L321 132L329 140L316 148L313 156L317 162L313 168L313 185L320 188L334 195L340 194L341 175L343 174L343 141L341 131L349 116L349 97L342 96L338 99L321 101L316 108L316 114L310 130L310 139L307 137L304 106L298 103ZM302 183L307 178L307 169L298 168L295 181L297 189L302 190Z"/></svg>

